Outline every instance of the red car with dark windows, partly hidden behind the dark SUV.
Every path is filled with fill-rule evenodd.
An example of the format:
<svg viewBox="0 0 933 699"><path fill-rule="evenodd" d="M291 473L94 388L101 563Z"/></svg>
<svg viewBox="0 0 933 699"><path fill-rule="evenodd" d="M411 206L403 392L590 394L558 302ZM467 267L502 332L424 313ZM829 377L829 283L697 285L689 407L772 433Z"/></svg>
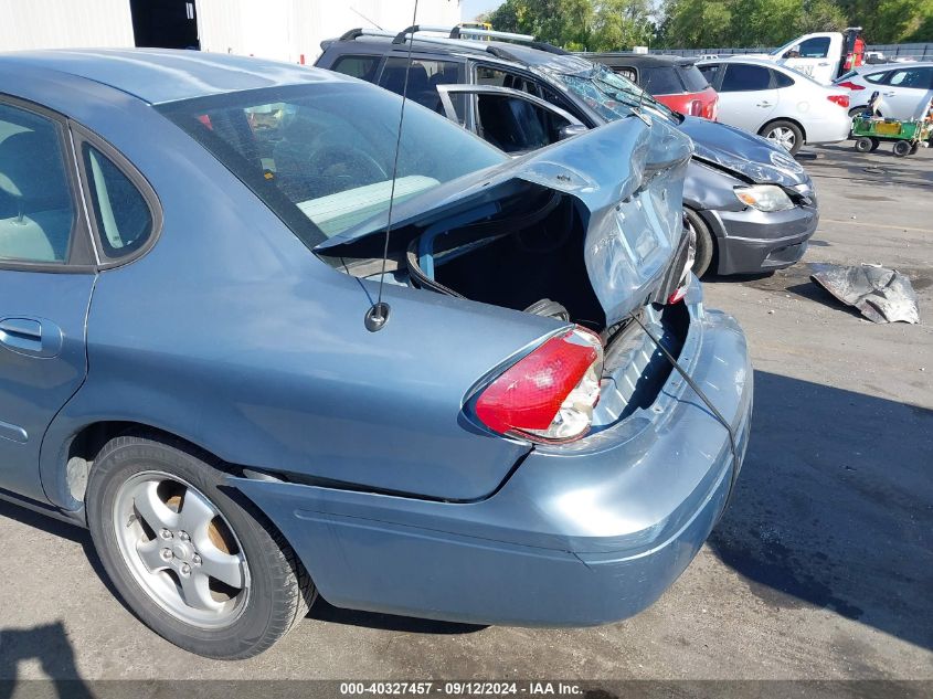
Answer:
<svg viewBox="0 0 933 699"><path fill-rule="evenodd" d="M719 94L710 87L692 59L643 53L586 53L584 57L607 65L658 102L680 114L715 121Z"/></svg>

